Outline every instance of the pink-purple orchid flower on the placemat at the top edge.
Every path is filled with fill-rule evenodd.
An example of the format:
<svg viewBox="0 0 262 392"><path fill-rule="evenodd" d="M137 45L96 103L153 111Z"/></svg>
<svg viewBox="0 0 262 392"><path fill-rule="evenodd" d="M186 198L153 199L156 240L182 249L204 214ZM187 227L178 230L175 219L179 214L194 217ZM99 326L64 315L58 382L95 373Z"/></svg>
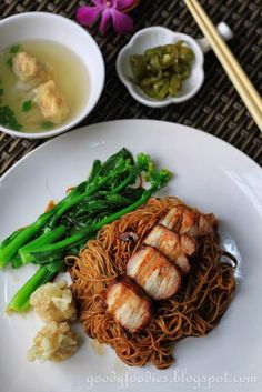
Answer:
<svg viewBox="0 0 262 392"><path fill-rule="evenodd" d="M133 29L132 19L123 10L133 6L135 0L91 0L94 7L82 6L77 11L77 20L80 24L91 27L101 16L99 32L104 33L108 24L112 22L119 34L130 32Z"/></svg>

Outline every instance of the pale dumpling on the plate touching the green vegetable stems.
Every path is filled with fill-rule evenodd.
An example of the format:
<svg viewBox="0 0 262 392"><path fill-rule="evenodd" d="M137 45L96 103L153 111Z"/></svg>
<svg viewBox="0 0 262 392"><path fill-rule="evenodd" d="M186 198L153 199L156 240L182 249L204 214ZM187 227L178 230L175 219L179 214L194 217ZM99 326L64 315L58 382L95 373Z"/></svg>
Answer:
<svg viewBox="0 0 262 392"><path fill-rule="evenodd" d="M43 321L73 321L77 309L66 281L46 283L30 298L30 304Z"/></svg>

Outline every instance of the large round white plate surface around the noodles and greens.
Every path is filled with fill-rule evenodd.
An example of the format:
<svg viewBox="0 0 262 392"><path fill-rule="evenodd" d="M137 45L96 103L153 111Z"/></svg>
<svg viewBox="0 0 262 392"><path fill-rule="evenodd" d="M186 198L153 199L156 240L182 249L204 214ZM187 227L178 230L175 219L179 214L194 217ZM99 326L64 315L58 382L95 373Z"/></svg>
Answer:
<svg viewBox="0 0 262 392"><path fill-rule="evenodd" d="M248 157L206 133L178 124L127 120L100 123L53 139L17 163L0 182L0 239L32 222L50 199L83 180L95 158L121 147L145 151L175 173L165 194L213 211L224 247L240 260L235 299L206 336L175 349L177 364L129 368L113 350L103 355L85 338L78 353L60 364L29 363L27 349L41 322L8 316L11 295L32 267L0 272L0 380L4 392L262 391L262 171Z"/></svg>

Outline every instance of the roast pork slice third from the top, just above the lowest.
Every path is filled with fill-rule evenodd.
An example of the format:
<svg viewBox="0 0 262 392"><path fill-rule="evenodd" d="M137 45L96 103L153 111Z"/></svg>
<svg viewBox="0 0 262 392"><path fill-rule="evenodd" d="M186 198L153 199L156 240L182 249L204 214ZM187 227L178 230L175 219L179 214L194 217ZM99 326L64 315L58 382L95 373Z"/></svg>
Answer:
<svg viewBox="0 0 262 392"><path fill-rule="evenodd" d="M133 278L153 300L172 296L181 283L179 269L149 245L143 245L130 258L127 275Z"/></svg>

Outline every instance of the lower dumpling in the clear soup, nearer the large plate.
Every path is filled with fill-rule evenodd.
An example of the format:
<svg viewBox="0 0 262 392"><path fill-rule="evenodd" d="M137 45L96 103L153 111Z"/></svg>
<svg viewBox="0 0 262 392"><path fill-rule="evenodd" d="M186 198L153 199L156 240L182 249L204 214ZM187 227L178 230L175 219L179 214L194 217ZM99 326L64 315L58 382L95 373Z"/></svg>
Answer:
<svg viewBox="0 0 262 392"><path fill-rule="evenodd" d="M57 89L53 80L38 86L33 89L33 101L39 105L43 117L60 124L68 115L69 108L64 97Z"/></svg>

